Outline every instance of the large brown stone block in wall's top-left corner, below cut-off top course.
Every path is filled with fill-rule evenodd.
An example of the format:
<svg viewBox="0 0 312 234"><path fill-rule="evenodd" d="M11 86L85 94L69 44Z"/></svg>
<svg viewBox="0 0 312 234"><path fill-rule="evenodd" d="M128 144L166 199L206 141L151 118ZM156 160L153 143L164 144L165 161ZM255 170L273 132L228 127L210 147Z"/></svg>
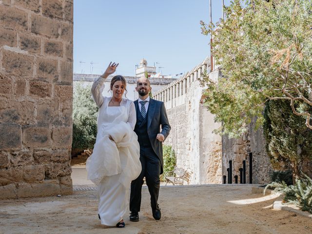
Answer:
<svg viewBox="0 0 312 234"><path fill-rule="evenodd" d="M27 31L27 17L27 13L20 9L0 5L0 26Z"/></svg>

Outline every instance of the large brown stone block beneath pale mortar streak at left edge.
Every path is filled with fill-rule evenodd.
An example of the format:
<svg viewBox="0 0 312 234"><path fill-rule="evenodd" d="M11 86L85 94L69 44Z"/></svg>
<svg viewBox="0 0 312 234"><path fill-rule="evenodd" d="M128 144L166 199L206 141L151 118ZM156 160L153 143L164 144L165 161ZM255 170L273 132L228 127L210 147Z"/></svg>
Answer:
<svg viewBox="0 0 312 234"><path fill-rule="evenodd" d="M6 72L20 77L33 76L33 56L3 50L2 57L2 67Z"/></svg>

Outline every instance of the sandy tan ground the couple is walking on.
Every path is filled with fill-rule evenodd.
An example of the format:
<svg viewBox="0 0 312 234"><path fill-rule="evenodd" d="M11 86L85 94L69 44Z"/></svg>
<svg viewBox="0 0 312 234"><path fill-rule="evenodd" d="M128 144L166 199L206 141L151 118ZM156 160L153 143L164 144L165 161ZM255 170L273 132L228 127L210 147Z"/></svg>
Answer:
<svg viewBox="0 0 312 234"><path fill-rule="evenodd" d="M311 234L312 219L272 210L273 196L251 194L251 185L160 188L162 218L153 219L147 188L139 222L105 228L96 191L69 196L0 200L1 234Z"/></svg>

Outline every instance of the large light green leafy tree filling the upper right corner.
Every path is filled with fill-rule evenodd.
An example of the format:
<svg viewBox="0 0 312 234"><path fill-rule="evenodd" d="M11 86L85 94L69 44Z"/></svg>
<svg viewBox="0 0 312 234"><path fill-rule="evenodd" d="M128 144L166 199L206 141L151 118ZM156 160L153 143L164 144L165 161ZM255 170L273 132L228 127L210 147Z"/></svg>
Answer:
<svg viewBox="0 0 312 234"><path fill-rule="evenodd" d="M226 20L216 26L201 21L223 74L202 80L208 88L203 102L223 123L218 133L241 136L253 117L261 126L268 98L286 99L312 129L311 12L311 0L233 0Z"/></svg>

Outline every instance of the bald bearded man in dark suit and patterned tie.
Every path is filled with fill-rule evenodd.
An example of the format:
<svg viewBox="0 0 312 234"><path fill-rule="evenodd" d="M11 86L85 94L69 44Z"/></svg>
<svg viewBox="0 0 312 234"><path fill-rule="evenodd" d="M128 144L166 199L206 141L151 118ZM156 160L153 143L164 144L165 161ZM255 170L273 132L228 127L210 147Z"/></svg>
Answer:
<svg viewBox="0 0 312 234"><path fill-rule="evenodd" d="M166 114L165 105L149 97L151 83L147 78L137 80L136 90L138 99L134 102L137 111L135 132L140 144L141 174L131 182L130 194L130 221L138 221L138 212L141 207L141 190L143 178L151 195L153 217L161 218L158 207L159 175L163 173L162 142L168 137L170 125ZM160 132L161 128L161 132Z"/></svg>

